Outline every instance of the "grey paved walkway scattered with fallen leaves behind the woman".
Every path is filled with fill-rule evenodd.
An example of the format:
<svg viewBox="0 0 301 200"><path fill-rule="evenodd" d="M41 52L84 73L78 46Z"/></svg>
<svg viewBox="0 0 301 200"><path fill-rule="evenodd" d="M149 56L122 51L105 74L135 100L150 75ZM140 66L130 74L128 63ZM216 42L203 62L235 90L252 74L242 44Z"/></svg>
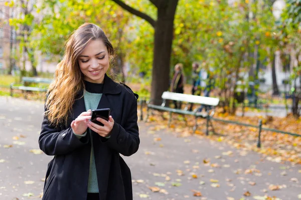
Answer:
<svg viewBox="0 0 301 200"><path fill-rule="evenodd" d="M0 97L0 199L39 199L51 159L32 150L39 148L42 113L41 102ZM124 158L132 171L134 199L265 199L259 196L269 195L294 200L301 194L299 165L271 162L206 137L152 131L143 122L139 127L140 148Z"/></svg>

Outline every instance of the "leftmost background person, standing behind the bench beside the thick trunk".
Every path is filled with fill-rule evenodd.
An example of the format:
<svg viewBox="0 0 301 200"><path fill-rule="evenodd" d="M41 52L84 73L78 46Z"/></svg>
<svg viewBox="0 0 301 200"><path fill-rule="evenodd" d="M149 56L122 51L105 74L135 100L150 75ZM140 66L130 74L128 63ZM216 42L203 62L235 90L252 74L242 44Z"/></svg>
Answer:
<svg viewBox="0 0 301 200"><path fill-rule="evenodd" d="M178 63L175 65L175 74L171 82L171 91L176 93L184 93L185 76L183 73L183 64ZM174 101L175 108L181 109L181 102Z"/></svg>

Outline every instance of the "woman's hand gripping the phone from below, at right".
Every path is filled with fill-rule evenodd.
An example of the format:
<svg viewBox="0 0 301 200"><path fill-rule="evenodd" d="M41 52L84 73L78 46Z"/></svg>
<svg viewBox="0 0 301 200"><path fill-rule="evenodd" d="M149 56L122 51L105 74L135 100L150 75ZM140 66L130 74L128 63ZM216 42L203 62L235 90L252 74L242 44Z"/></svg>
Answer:
<svg viewBox="0 0 301 200"><path fill-rule="evenodd" d="M111 115L109 116L108 121L100 117L97 117L96 120L103 123L103 126L93 123L92 121L89 121L88 127L94 132L98 133L100 136L103 137L109 136L114 125L114 119L112 118L112 116Z"/></svg>

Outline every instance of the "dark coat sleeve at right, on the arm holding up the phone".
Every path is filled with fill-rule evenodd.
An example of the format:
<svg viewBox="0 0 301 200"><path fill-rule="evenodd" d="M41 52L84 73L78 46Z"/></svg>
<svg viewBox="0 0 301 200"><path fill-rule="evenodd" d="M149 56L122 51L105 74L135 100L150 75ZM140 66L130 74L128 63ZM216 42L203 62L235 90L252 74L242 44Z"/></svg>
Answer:
<svg viewBox="0 0 301 200"><path fill-rule="evenodd" d="M134 154L139 147L139 130L137 124L137 100L132 100L127 120L122 127L114 122L110 138L107 140L107 145L124 156Z"/></svg>

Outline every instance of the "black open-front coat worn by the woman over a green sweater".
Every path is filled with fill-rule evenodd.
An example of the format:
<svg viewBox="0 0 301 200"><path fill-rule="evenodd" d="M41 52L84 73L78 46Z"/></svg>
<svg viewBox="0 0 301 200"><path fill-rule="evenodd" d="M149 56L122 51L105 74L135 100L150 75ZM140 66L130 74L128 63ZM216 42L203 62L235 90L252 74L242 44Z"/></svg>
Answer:
<svg viewBox="0 0 301 200"><path fill-rule="evenodd" d="M92 131L99 199L129 200L132 199L130 169L119 153L129 156L138 150L137 95L105 75L97 108L108 107L114 119L110 138ZM83 111L86 108L81 97L75 100L67 125L61 123L55 127L44 117L39 144L41 150L54 158L48 164L43 200L87 199L90 134L79 139L71 128L72 120Z"/></svg>

